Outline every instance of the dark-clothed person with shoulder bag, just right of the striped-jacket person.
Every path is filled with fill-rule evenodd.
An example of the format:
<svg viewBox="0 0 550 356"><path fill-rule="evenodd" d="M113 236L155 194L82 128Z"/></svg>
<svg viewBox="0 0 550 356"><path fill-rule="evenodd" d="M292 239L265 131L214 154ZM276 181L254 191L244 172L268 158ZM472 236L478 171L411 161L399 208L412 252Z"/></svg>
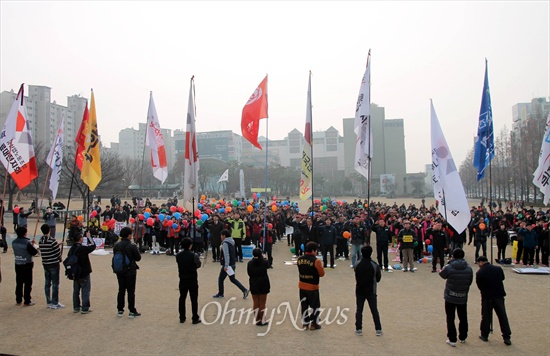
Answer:
<svg viewBox="0 0 550 356"><path fill-rule="evenodd" d="M84 237L78 234L75 237L74 244L71 246L68 255L75 255L78 258L79 273L73 279L73 312L82 314L91 313L90 309L90 292L92 282L90 274L92 273L92 264L90 263L90 253L95 250L95 242L86 233L88 245L83 246ZM80 297L82 296L82 303Z"/></svg>

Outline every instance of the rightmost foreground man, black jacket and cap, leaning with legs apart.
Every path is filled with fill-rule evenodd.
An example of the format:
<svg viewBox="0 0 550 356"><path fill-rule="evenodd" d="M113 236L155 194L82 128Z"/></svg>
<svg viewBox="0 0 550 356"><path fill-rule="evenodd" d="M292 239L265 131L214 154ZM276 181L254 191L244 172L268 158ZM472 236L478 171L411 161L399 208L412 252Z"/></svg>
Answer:
<svg viewBox="0 0 550 356"><path fill-rule="evenodd" d="M481 292L481 335L479 338L482 341L489 341L489 333L491 332L491 321L493 319L493 310L498 317L502 338L506 345L512 345L510 336L510 324L506 315L506 307L504 305L504 271L501 267L493 266L485 256L477 258L479 270L476 273L476 284Z"/></svg>

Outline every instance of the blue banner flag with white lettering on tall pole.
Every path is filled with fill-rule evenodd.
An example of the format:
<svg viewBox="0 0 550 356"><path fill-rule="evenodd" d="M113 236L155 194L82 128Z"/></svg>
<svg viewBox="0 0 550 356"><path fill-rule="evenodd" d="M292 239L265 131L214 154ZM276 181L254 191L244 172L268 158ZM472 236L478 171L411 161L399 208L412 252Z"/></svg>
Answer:
<svg viewBox="0 0 550 356"><path fill-rule="evenodd" d="M474 167L477 169L477 180L485 176L485 169L495 157L495 139L493 135L493 110L491 109L491 92L489 91L489 74L485 59L485 81L479 110L477 139L474 151Z"/></svg>

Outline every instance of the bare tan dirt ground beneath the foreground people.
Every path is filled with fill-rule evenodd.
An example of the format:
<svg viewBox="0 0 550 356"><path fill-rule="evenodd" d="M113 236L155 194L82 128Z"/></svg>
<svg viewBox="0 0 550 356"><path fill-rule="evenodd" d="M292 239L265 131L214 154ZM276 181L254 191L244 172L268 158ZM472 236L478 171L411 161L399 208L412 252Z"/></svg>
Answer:
<svg viewBox="0 0 550 356"><path fill-rule="evenodd" d="M395 199L398 201L398 199ZM427 199L429 203L429 199ZM349 200L348 200L349 201ZM393 200L391 201L393 203ZM419 204L419 202L417 203ZM7 224L9 232L12 232ZM32 226L32 225L31 225ZM59 229L59 228L58 228ZM474 248L466 246L466 258L473 264ZM511 253L511 248L507 251ZM66 251L65 251L66 254ZM496 249L495 249L496 254ZM320 294L324 323L318 331L297 330L299 307L298 274L285 265L292 254L286 240L274 246L274 269L269 270L271 293L268 315L270 327L246 322L240 309L252 308L249 297L229 280L225 299L212 299L217 293L219 264L206 261L199 271L199 311L203 323L192 325L188 301L188 321L179 323L178 274L175 258L144 254L139 263L136 306L143 314L129 319L116 315L116 277L111 256L92 255L91 309L88 315L72 311L72 282L61 277L60 310L46 308L43 268L35 259L33 300L35 306L15 305L13 253L0 254L3 281L0 284L0 354L37 355L80 354L369 354L434 355L449 353L498 355L547 355L550 340L550 277L519 275L505 268L506 306L512 329L512 346L502 342L495 317L489 342L478 339L481 299L475 282L468 303L469 337L456 348L446 345L443 301L445 281L430 273L431 266L416 265L418 272L383 273L378 286L378 309L384 335L375 336L368 308L363 314L363 336L355 330L355 281L349 261L337 261L321 279ZM390 255L395 258L395 255ZM478 267L473 265L474 273ZM248 286L246 261L237 265L237 279ZM216 302L220 304L216 304ZM234 310L233 321L231 311ZM225 312L224 312L225 311ZM294 316L295 321L292 321ZM261 336L261 333L265 335Z"/></svg>

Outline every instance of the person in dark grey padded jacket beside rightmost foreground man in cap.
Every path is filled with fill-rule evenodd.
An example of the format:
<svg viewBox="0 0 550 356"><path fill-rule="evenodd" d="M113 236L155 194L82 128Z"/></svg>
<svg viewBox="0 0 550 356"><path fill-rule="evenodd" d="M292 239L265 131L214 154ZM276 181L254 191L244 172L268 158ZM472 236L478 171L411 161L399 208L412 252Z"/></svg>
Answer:
<svg viewBox="0 0 550 356"><path fill-rule="evenodd" d="M468 292L474 280L472 267L464 259L464 251L455 249L453 258L441 272L441 278L446 279L445 292L445 314L447 314L447 344L456 346L455 310L458 315L458 338L461 343L466 342L468 337Z"/></svg>

